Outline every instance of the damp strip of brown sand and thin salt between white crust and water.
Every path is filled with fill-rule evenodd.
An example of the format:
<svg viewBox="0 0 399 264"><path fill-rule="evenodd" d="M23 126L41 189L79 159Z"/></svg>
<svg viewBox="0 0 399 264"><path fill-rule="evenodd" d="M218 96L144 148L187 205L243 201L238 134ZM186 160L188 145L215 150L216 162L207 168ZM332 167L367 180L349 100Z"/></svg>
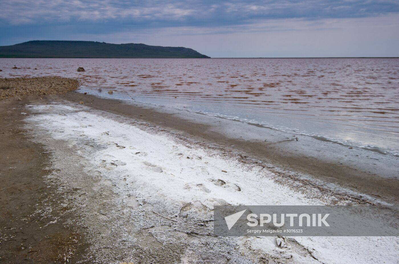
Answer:
<svg viewBox="0 0 399 264"><path fill-rule="evenodd" d="M264 162L289 177L311 180L327 188L342 186L388 203L399 201L399 180L394 168L399 158L395 156L348 149L305 136L299 141L292 141L286 138L286 133L279 131L272 131L273 137L268 137L271 129L265 127L198 113L148 107L134 101L126 103L120 99L79 92L68 93L63 99L84 101L97 110L153 123L201 142L215 143L248 160ZM318 143L314 145L317 152L309 151L309 146ZM316 153L319 156L315 156Z"/></svg>

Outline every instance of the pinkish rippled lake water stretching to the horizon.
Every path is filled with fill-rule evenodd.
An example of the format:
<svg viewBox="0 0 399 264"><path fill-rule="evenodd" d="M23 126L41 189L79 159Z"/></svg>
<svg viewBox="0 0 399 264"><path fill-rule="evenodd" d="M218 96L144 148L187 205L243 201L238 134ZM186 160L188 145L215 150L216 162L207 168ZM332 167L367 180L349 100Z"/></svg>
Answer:
<svg viewBox="0 0 399 264"><path fill-rule="evenodd" d="M0 59L0 69L399 154L399 59Z"/></svg>

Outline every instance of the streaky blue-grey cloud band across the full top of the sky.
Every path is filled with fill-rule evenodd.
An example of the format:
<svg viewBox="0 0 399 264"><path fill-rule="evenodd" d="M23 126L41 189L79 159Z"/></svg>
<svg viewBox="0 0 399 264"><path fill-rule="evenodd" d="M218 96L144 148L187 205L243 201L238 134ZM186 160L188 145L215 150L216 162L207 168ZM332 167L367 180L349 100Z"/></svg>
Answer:
<svg viewBox="0 0 399 264"><path fill-rule="evenodd" d="M254 19L355 18L399 12L392 0L126 1L2 0L0 20L10 25L65 22L230 25Z"/></svg>

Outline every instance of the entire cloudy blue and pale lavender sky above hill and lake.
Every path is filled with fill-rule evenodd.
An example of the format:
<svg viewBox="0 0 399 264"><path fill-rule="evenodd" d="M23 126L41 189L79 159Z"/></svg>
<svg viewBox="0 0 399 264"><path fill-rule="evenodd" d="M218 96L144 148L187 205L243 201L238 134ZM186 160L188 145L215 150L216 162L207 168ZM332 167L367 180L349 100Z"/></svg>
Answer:
<svg viewBox="0 0 399 264"><path fill-rule="evenodd" d="M0 0L0 45L90 40L211 57L399 57L399 0Z"/></svg>

